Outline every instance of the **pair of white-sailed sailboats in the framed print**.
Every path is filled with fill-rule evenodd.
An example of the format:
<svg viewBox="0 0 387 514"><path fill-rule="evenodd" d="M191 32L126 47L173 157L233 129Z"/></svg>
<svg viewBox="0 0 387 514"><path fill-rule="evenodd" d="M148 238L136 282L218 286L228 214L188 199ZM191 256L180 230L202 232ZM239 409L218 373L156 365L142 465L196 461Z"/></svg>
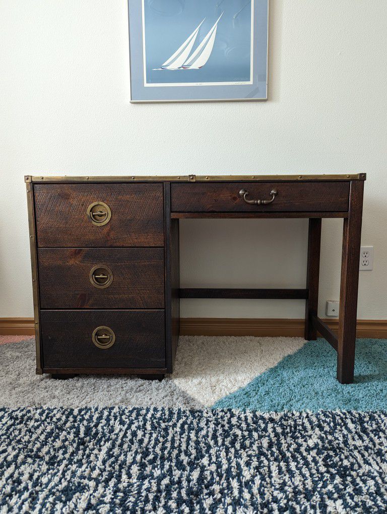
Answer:
<svg viewBox="0 0 387 514"><path fill-rule="evenodd" d="M165 61L160 68L156 69L169 69L169 70L177 70L177 69L199 69L203 67L206 62L210 59L212 49L215 43L216 37L216 29L219 23L220 18L223 16L220 14L214 25L211 27L210 31L204 38L204 40L199 44L196 50L191 54L191 50L193 45L195 44L196 36L199 32L199 28L203 20L196 29L192 32L190 36L186 39L186 41L175 51L175 53Z"/></svg>

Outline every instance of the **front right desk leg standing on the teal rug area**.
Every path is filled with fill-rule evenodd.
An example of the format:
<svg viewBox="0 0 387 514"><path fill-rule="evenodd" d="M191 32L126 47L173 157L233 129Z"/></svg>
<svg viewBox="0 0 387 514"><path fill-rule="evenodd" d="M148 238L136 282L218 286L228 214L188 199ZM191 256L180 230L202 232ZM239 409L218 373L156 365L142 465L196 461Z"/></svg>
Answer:
<svg viewBox="0 0 387 514"><path fill-rule="evenodd" d="M344 218L343 224L337 348L337 379L342 384L349 384L354 381L363 188L364 182L362 180L351 182L349 215Z"/></svg>

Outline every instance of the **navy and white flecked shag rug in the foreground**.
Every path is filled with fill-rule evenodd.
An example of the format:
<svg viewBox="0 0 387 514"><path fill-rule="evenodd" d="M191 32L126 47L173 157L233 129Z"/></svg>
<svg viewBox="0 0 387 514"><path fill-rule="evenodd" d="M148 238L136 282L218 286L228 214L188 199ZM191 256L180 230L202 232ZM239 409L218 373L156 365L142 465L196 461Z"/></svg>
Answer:
<svg viewBox="0 0 387 514"><path fill-rule="evenodd" d="M385 512L387 416L0 409L1 512Z"/></svg>

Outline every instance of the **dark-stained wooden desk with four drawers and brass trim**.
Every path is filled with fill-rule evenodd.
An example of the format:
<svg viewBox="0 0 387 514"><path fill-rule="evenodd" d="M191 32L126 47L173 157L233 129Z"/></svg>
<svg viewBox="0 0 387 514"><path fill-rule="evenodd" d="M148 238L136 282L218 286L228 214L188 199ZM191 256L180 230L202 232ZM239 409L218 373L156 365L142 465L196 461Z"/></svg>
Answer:
<svg viewBox="0 0 387 514"><path fill-rule="evenodd" d="M26 176L36 373L173 370L180 298L305 299L305 339L354 378L365 174ZM322 218L343 218L339 333L317 316ZM180 218L309 218L303 289L180 288Z"/></svg>

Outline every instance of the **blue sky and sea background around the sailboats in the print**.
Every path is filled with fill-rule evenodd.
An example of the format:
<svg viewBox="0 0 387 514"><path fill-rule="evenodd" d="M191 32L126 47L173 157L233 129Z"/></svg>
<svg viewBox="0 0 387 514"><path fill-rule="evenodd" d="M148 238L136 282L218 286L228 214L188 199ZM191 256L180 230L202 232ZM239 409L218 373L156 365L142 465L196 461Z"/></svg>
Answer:
<svg viewBox="0 0 387 514"><path fill-rule="evenodd" d="M266 20L267 4L256 1ZM249 82L251 12L251 2L246 0L144 0L146 83ZM168 61L205 19L189 53L192 56L222 13L210 57L200 69L154 69Z"/></svg>

